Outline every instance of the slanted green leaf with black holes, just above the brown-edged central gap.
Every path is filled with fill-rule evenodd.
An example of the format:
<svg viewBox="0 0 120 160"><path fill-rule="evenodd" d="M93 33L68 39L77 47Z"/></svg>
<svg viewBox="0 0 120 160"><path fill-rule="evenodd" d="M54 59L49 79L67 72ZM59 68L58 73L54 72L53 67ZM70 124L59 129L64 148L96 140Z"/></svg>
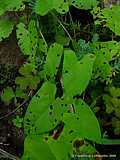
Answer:
<svg viewBox="0 0 120 160"><path fill-rule="evenodd" d="M62 121L64 112L67 111L68 108L65 106L64 101L54 100L37 119L34 126L36 133L48 132L55 128Z"/></svg>

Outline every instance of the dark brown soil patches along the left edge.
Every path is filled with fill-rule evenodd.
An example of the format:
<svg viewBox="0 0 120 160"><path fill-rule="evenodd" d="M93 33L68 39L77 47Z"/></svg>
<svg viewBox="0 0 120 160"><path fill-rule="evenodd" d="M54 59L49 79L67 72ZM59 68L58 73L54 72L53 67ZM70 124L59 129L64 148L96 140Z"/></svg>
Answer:
<svg viewBox="0 0 120 160"><path fill-rule="evenodd" d="M14 88L15 77L23 63L24 58L17 46L15 31L13 31L8 40L0 43L0 92L8 85ZM11 122L15 114L4 117L14 109L14 103L6 105L0 101L0 149L13 155L21 156L23 151L23 131L13 126Z"/></svg>

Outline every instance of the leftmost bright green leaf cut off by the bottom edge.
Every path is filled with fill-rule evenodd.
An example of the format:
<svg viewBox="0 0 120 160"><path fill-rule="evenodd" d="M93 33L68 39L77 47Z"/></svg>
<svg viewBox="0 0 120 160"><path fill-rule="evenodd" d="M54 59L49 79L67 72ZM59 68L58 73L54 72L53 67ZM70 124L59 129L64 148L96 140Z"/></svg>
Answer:
<svg viewBox="0 0 120 160"><path fill-rule="evenodd" d="M40 135L26 137L24 146L21 160L56 160L47 142Z"/></svg>

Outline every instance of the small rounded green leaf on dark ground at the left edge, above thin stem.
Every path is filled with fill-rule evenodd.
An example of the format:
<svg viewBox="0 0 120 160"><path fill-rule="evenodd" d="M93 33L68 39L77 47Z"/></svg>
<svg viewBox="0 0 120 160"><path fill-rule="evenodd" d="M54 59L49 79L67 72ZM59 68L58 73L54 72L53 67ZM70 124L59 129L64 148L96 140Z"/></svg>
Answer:
<svg viewBox="0 0 120 160"><path fill-rule="evenodd" d="M9 104L12 98L14 97L15 95L11 87L5 88L1 94L2 101L4 101L7 104Z"/></svg>

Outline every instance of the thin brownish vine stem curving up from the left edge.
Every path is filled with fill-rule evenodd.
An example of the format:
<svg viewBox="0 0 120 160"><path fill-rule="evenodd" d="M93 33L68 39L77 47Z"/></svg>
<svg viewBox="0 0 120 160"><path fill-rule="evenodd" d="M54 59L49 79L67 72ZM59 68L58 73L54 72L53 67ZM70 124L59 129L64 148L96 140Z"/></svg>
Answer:
<svg viewBox="0 0 120 160"><path fill-rule="evenodd" d="M32 92L32 91L29 92L28 97L30 97L31 92ZM1 116L1 117L0 117L0 120L5 119L5 118L11 116L12 114L14 114L15 112L17 112L17 110L18 110L19 108L21 108L24 104L26 104L27 101L28 101L28 100L24 100L24 101L23 101L17 108L15 108L13 111L11 111L11 112L9 112L9 113Z"/></svg>

